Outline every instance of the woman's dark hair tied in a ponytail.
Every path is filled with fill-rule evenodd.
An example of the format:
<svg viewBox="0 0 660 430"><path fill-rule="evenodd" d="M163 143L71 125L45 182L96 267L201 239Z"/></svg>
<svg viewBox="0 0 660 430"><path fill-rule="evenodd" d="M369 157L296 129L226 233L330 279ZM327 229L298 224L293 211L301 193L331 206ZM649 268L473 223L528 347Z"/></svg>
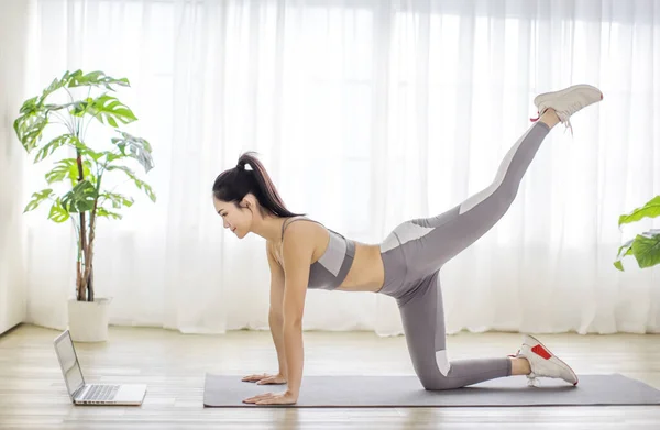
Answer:
<svg viewBox="0 0 660 430"><path fill-rule="evenodd" d="M222 201L237 205L243 197L252 192L263 209L277 217L297 217L290 212L279 197L271 176L264 165L256 158L255 152L243 153L234 168L222 172L213 183L213 196ZM245 169L245 165L252 167Z"/></svg>

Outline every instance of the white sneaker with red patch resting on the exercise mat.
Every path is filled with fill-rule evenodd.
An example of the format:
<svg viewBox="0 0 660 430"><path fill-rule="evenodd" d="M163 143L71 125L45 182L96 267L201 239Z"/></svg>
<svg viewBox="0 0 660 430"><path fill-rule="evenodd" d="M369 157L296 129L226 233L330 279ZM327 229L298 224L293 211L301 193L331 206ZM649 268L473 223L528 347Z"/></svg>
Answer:
<svg viewBox="0 0 660 430"><path fill-rule="evenodd" d="M559 360L541 342L529 334L522 335L522 345L513 357L525 357L529 362L531 373L527 375L527 385L537 387L537 377L562 378L571 385L578 385L575 372Z"/></svg>

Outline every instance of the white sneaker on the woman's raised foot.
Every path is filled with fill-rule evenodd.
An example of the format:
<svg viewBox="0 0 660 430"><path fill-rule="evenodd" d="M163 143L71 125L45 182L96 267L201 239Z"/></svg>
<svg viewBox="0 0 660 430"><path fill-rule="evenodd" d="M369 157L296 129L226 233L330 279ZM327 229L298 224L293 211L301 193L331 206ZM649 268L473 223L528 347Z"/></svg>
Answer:
<svg viewBox="0 0 660 430"><path fill-rule="evenodd" d="M538 109L538 118L531 118L530 120L532 122L537 121L546 110L552 108L561 123L571 129L572 134L571 115L582 108L586 108L601 100L603 100L603 92L596 87L586 84L574 85L559 91L544 92L534 99L534 104Z"/></svg>

